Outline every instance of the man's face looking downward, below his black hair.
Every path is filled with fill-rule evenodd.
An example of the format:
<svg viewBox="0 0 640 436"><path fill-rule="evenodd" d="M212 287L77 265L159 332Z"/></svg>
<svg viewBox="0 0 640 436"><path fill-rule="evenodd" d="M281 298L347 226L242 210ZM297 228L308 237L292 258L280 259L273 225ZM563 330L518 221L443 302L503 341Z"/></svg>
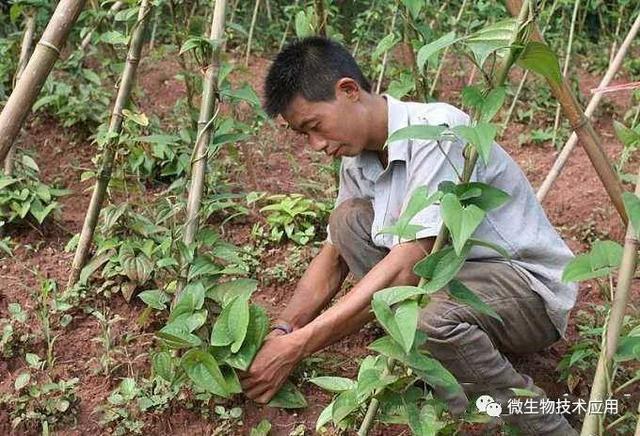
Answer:
<svg viewBox="0 0 640 436"><path fill-rule="evenodd" d="M282 114L309 145L329 156L356 156L367 145L367 128L359 89L336 90L332 101L310 102L298 94Z"/></svg>

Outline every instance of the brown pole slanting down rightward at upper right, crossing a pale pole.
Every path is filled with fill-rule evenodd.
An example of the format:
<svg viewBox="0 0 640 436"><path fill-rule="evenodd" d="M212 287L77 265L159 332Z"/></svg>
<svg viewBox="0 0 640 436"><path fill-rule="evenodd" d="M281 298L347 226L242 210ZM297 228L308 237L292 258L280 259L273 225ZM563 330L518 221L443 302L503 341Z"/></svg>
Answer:
<svg viewBox="0 0 640 436"><path fill-rule="evenodd" d="M515 15L522 6L522 0L507 0L507 9L512 15ZM533 38L542 40L540 32L534 29ZM562 106L565 116L569 120L577 137L582 141L584 150L589 156L591 164L596 170L600 181L604 185L607 194L611 198L613 205L617 209L622 221L627 223L627 213L622 202L622 186L613 171L613 167L609 162L609 158L602 150L602 140L596 133L589 118L585 116L582 108L578 104L575 96L571 92L571 88L567 81L563 78L560 82L547 79L547 83L551 88L551 93L556 97Z"/></svg>

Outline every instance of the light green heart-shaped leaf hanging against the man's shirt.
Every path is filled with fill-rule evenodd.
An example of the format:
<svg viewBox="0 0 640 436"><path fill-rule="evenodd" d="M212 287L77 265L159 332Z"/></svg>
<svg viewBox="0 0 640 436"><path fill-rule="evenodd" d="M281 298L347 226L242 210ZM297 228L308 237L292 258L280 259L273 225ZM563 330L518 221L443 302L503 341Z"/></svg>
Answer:
<svg viewBox="0 0 640 436"><path fill-rule="evenodd" d="M458 255L485 217L485 211L471 204L462 206L454 194L442 197L440 212L451 233L453 247Z"/></svg>

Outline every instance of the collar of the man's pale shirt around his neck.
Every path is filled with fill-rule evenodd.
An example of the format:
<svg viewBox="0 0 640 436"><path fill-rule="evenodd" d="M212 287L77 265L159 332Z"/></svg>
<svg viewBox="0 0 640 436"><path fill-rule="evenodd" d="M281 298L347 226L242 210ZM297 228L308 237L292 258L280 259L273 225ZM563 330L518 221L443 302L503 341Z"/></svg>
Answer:
<svg viewBox="0 0 640 436"><path fill-rule="evenodd" d="M387 100L387 129L390 136L396 130L409 125L409 111L402 101L389 94L383 94L383 96ZM406 139L387 144L389 164L394 161L406 162L408 145ZM362 168L364 175L371 180L376 180L384 170L377 154L372 151L364 150L355 157L355 160L356 165Z"/></svg>

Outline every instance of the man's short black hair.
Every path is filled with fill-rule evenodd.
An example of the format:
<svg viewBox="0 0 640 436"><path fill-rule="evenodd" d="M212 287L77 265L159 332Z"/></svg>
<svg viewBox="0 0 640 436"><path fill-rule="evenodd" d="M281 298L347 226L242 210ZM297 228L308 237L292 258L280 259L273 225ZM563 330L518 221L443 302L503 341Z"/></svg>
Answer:
<svg viewBox="0 0 640 436"><path fill-rule="evenodd" d="M371 92L371 84L342 45L319 36L295 41L278 53L269 68L264 109L271 117L281 114L298 94L308 101L333 100L335 85L343 77Z"/></svg>

